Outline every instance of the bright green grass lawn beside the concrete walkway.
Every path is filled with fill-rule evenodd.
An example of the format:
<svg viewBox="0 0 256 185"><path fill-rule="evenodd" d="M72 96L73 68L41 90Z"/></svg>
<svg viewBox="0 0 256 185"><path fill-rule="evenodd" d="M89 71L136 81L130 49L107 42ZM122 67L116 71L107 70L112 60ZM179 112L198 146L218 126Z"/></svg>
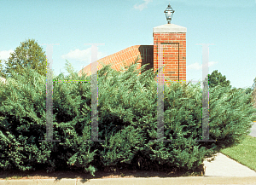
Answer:
<svg viewBox="0 0 256 185"><path fill-rule="evenodd" d="M247 136L241 144L236 147L225 148L220 151L229 156L230 159L236 160L241 165L256 171L256 137Z"/></svg>

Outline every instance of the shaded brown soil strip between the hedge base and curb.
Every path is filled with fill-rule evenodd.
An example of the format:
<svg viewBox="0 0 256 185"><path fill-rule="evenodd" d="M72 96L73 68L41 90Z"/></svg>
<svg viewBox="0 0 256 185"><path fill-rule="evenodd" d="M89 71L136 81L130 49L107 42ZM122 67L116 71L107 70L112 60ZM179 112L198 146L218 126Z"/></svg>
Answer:
<svg viewBox="0 0 256 185"><path fill-rule="evenodd" d="M76 179L103 179L103 178L132 178L132 177L178 177L178 176L204 176L204 167L200 166L196 171L140 171L128 169L113 169L113 171L96 171L95 176L83 171L0 171L0 180L4 179L56 179L76 178Z"/></svg>

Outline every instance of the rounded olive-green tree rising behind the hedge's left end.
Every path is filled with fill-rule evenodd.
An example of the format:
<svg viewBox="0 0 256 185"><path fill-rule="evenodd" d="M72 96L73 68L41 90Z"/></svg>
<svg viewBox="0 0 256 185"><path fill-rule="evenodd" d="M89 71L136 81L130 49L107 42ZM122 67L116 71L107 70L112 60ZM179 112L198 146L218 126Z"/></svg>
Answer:
<svg viewBox="0 0 256 185"><path fill-rule="evenodd" d="M28 66L46 77L46 55L34 39L20 43L20 46L10 55L8 61L5 61L5 77L12 77L11 71L23 74L24 68Z"/></svg>

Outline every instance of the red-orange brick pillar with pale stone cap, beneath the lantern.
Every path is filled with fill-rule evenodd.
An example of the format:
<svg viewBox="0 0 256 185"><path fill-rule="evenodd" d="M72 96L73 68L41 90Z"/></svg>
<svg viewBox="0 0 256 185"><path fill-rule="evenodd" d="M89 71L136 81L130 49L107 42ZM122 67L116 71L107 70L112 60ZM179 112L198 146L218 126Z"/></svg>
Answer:
<svg viewBox="0 0 256 185"><path fill-rule="evenodd" d="M161 44L163 51L164 78L174 81L186 80L186 32L187 28L166 24L153 28L154 72L158 68ZM168 83L169 84L169 83Z"/></svg>

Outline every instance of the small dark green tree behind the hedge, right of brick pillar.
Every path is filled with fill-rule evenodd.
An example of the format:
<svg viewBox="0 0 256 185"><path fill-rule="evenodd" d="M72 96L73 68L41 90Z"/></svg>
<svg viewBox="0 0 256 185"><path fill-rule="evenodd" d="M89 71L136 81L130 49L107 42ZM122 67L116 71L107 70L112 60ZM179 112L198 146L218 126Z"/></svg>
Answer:
<svg viewBox="0 0 256 185"><path fill-rule="evenodd" d="M225 75L222 76L218 70L215 70L212 72L212 74L208 74L208 80L209 80L209 87L215 87L217 85L223 86L223 87L231 87L230 80L226 80Z"/></svg>

